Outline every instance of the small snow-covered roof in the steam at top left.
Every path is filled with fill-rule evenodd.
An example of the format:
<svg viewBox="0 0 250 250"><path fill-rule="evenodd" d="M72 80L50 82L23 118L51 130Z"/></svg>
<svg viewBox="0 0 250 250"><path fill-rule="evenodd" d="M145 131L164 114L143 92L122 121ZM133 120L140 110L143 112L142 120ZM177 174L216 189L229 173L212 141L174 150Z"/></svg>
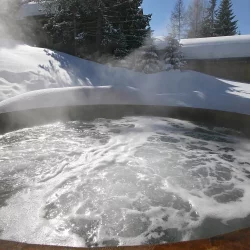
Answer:
<svg viewBox="0 0 250 250"><path fill-rule="evenodd" d="M45 11L41 4L32 1L21 6L17 15L17 19L22 20L26 17L35 17L42 15L45 15Z"/></svg>

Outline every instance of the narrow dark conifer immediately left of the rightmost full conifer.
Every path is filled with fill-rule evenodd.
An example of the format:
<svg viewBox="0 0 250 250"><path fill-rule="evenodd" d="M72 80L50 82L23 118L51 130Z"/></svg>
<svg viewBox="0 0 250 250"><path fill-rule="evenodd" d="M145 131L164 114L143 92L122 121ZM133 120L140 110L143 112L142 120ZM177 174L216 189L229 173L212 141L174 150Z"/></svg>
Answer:
<svg viewBox="0 0 250 250"><path fill-rule="evenodd" d="M215 33L215 15L216 15L217 0L210 0L209 6L206 9L206 15L202 22L201 36L213 37Z"/></svg>

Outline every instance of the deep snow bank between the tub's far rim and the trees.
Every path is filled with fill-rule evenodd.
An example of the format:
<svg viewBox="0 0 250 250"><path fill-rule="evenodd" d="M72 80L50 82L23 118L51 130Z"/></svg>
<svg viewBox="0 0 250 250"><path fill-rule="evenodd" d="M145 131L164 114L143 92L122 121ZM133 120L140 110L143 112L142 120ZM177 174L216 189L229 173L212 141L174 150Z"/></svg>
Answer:
<svg viewBox="0 0 250 250"><path fill-rule="evenodd" d="M5 41L0 42L0 101L0 113L68 105L139 104L250 114L250 85L193 71L146 75Z"/></svg>

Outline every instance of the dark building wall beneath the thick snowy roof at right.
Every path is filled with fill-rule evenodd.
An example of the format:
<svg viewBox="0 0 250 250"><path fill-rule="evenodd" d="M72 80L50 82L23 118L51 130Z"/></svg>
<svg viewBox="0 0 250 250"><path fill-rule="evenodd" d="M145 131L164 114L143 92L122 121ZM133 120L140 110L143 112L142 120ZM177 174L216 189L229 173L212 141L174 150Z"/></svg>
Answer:
<svg viewBox="0 0 250 250"><path fill-rule="evenodd" d="M194 70L208 75L225 78L232 81L250 83L250 57L226 58L212 60L186 60L185 69Z"/></svg>

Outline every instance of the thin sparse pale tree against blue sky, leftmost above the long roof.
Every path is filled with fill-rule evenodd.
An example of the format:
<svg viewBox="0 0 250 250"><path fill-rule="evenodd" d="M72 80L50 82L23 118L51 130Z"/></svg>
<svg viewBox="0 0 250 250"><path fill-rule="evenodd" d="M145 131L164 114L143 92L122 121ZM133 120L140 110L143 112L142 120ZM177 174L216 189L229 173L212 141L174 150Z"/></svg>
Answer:
<svg viewBox="0 0 250 250"><path fill-rule="evenodd" d="M177 0L171 13L171 34L180 40L185 27L185 6L183 0Z"/></svg>

